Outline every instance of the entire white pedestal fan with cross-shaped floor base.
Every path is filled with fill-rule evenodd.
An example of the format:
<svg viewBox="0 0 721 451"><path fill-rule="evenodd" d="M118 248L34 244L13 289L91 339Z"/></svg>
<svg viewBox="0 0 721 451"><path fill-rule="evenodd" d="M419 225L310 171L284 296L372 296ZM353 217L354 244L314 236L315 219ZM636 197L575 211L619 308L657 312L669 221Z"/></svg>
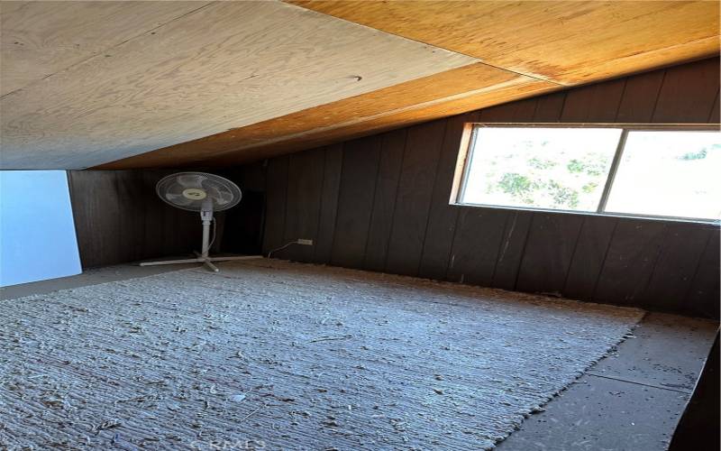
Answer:
<svg viewBox="0 0 721 451"><path fill-rule="evenodd" d="M214 212L235 207L242 198L241 189L231 180L206 172L178 172L160 179L155 186L155 191L161 199L173 207L200 212L200 220L203 223L203 244L200 247L200 253L196 253L196 258L142 262L141 266L198 262L204 263L210 270L217 272L218 268L213 262L262 258L261 255L208 256L211 245L210 226L211 223L214 225L215 221Z"/></svg>

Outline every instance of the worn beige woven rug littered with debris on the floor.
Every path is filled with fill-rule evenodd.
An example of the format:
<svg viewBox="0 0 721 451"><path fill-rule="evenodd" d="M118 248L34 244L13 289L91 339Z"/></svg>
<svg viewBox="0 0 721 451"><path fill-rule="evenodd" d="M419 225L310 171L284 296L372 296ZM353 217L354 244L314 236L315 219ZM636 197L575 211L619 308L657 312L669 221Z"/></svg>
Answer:
<svg viewBox="0 0 721 451"><path fill-rule="evenodd" d="M3 449L488 448L642 316L267 260L0 311Z"/></svg>

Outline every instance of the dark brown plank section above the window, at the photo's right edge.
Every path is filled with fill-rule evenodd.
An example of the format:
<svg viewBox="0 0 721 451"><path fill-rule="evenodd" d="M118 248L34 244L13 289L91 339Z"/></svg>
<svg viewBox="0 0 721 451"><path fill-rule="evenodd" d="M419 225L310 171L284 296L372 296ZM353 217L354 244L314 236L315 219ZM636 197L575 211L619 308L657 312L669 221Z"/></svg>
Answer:
<svg viewBox="0 0 721 451"><path fill-rule="evenodd" d="M653 122L704 124L718 92L718 59L666 69Z"/></svg>

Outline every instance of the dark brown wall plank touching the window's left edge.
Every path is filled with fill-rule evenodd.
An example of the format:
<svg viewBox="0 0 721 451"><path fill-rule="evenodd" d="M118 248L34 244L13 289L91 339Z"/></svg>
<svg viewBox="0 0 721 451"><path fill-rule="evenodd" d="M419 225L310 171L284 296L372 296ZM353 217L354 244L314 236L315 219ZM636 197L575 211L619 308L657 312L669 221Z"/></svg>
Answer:
<svg viewBox="0 0 721 451"><path fill-rule="evenodd" d="M446 124L441 157L434 180L431 211L428 214L428 226L425 230L421 264L418 269L420 277L443 280L448 271L448 259L451 256L453 232L459 211L459 207L449 203L453 175L465 124L477 120L477 113L469 113L450 117Z"/></svg>

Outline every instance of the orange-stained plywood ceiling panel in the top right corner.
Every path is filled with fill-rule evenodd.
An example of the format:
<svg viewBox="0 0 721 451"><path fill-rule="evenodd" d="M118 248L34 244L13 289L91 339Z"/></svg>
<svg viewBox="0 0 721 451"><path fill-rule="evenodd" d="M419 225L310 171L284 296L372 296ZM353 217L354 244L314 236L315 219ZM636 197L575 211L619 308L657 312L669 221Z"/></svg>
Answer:
<svg viewBox="0 0 721 451"><path fill-rule="evenodd" d="M567 85L719 49L716 1L290 3Z"/></svg>

